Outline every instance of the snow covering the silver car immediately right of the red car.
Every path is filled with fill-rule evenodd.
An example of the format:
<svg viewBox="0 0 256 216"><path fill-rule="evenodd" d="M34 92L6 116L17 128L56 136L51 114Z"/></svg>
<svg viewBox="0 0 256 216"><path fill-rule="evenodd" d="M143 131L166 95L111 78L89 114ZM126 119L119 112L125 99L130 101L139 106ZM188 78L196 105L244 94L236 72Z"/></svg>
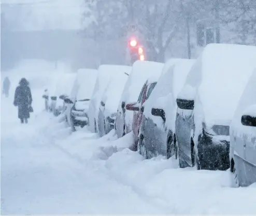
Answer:
<svg viewBox="0 0 256 216"><path fill-rule="evenodd" d="M169 60L166 63L167 66L165 66L157 85L145 102L145 117L150 117L158 126L161 126L161 117L152 116L151 109L164 109L166 125L174 128L177 110L177 94L186 81L187 75L194 63L195 60L189 59Z"/></svg>

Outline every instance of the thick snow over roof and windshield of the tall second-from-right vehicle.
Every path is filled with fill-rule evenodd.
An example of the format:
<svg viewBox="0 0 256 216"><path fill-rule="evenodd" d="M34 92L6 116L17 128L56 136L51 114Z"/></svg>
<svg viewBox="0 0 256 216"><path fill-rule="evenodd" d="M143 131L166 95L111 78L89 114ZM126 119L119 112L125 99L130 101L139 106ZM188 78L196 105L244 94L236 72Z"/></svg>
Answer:
<svg viewBox="0 0 256 216"><path fill-rule="evenodd" d="M238 100L256 67L255 56L253 46L210 44L205 47L191 68L186 85L195 88L195 99L202 103L207 123L233 118ZM186 98L186 93L188 91L182 89L179 96Z"/></svg>

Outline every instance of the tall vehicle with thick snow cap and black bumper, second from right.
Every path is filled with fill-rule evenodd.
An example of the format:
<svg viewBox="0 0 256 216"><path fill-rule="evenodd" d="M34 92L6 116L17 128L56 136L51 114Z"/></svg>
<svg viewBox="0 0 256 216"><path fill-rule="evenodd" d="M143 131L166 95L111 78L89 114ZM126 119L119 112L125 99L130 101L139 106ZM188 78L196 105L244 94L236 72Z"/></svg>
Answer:
<svg viewBox="0 0 256 216"><path fill-rule="evenodd" d="M180 167L230 167L230 123L252 74L256 47L207 45L177 96L175 123Z"/></svg>

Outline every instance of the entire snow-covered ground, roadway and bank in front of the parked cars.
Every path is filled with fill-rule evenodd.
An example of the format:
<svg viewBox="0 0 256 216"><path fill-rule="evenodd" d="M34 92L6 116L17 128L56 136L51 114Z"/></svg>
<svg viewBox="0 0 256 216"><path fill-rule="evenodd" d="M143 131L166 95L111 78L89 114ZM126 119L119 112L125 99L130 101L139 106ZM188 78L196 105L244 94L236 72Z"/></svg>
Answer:
<svg viewBox="0 0 256 216"><path fill-rule="evenodd" d="M11 87L10 95L15 91ZM132 133L71 133L41 111L21 125L13 97L1 98L1 214L255 214L256 184L232 188L230 171L178 168L178 161L126 147ZM8 113L8 114L6 114Z"/></svg>

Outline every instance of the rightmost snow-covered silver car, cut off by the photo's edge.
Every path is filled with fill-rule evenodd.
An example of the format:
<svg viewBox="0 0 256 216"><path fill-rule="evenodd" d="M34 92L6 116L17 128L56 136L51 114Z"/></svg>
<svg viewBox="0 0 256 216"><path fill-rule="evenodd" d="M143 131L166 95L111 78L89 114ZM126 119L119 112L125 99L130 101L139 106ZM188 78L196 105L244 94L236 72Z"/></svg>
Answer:
<svg viewBox="0 0 256 216"><path fill-rule="evenodd" d="M256 182L256 69L230 125L230 163L236 186Z"/></svg>

